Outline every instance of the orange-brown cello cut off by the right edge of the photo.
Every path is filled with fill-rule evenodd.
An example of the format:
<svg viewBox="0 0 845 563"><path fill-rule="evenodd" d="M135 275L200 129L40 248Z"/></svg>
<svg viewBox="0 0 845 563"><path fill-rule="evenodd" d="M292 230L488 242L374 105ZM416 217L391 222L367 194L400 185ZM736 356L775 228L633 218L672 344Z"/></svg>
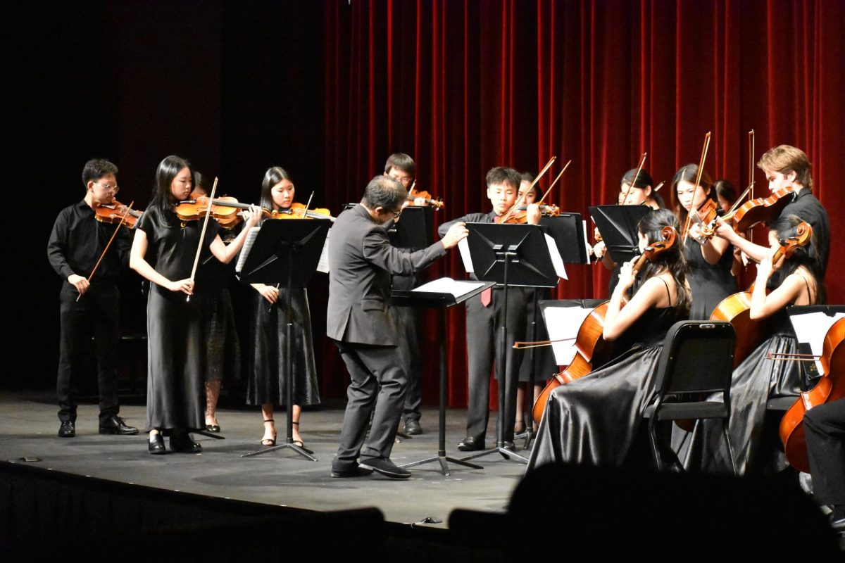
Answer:
<svg viewBox="0 0 845 563"><path fill-rule="evenodd" d="M845 352L839 344L845 339L845 318L834 322L825 334L821 351L822 376L810 391L802 391L800 397L783 415L780 436L783 452L793 468L810 473L807 459L807 441L804 437L804 413L820 404L832 403L845 397ZM845 346L842 347L845 350Z"/></svg>

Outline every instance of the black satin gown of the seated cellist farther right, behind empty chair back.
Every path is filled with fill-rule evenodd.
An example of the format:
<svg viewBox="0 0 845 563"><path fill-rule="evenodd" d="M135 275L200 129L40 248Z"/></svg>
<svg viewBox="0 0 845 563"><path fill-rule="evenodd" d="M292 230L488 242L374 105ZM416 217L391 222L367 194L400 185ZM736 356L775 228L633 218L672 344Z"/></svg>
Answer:
<svg viewBox="0 0 845 563"><path fill-rule="evenodd" d="M772 333L733 371L728 437L737 473L774 474L786 468L778 449L777 428L766 425L769 398L798 398L804 382L799 362L767 360L772 353L795 354L798 339L785 310L770 317ZM738 335L741 338L741 335ZM712 473L731 472L730 458L722 436L722 422L700 420L684 448L684 468Z"/></svg>

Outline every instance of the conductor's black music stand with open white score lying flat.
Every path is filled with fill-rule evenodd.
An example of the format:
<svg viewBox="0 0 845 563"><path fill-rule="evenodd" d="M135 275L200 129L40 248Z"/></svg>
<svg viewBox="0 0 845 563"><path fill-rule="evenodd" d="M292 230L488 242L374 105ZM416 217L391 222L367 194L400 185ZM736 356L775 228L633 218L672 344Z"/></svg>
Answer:
<svg viewBox="0 0 845 563"><path fill-rule="evenodd" d="M402 215L404 219L404 213ZM437 281L450 282L454 288L455 293L447 293L440 291L417 291L417 290L393 290L390 294L392 305L400 307L431 307L438 310L439 329L440 329L440 398L439 398L439 448L437 455L434 457L426 457L417 462L405 463L401 465L403 468L413 467L415 465L423 465L424 463L439 462L440 473L449 475L449 465L446 462L458 463L468 468L482 469L480 465L475 463L467 463L455 457L446 456L446 309L450 306L463 303L473 295L478 295L483 290L493 287L493 282L468 282L455 281L448 278L442 278ZM434 284L436 282L432 282ZM426 284L429 285L429 284Z"/></svg>

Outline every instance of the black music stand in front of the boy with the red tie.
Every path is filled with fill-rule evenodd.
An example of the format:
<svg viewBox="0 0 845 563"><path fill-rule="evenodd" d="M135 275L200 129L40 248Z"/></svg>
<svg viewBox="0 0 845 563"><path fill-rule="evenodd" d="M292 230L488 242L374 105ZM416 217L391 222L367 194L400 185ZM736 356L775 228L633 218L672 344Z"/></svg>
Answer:
<svg viewBox="0 0 845 563"><path fill-rule="evenodd" d="M472 258L472 269L477 279L494 282L502 288L502 326L499 328L499 416L496 421L496 447L463 457L461 461L498 452L510 461L528 463L521 455L504 447L504 390L508 388L507 331L508 288L510 286L548 287L558 284L558 274L552 262L542 227L538 225L496 225L492 223L467 223L469 235L466 244ZM513 268L512 271L511 268Z"/></svg>

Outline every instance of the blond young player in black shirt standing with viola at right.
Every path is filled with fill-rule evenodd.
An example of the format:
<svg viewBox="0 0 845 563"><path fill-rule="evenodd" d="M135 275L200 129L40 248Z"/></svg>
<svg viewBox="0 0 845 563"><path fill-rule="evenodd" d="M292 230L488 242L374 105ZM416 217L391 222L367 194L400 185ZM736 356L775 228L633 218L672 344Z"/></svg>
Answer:
<svg viewBox="0 0 845 563"><path fill-rule="evenodd" d="M824 280L827 257L830 252L831 227L825 208L812 193L813 178L810 175L810 160L807 159L803 150L782 144L766 151L757 162L757 167L766 173L769 191L772 194L784 189L792 192L782 196L791 198L792 201L783 208L779 216L796 215L813 228L815 238L813 244L818 246L815 253L819 258L819 269L815 272L815 277ZM754 262L759 263L769 254L767 246L756 245L745 239L721 219L717 220L717 225L716 234L737 246Z"/></svg>

